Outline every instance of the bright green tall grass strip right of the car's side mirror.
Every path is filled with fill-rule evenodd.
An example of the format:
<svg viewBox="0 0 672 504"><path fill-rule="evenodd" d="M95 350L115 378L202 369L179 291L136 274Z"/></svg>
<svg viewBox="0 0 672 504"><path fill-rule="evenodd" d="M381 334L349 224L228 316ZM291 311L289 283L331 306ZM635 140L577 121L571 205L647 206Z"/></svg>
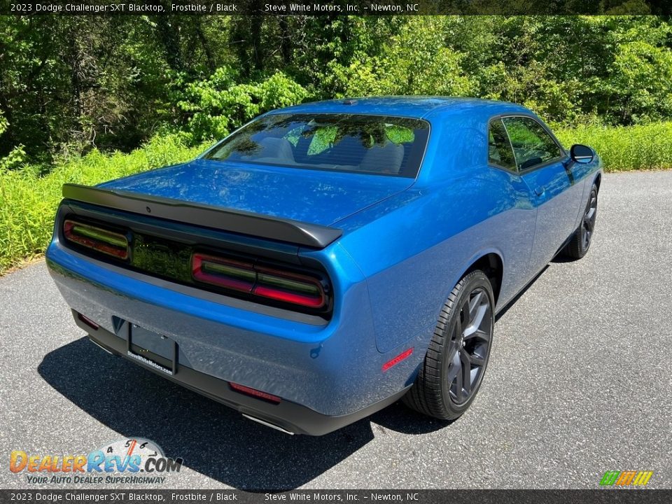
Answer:
<svg viewBox="0 0 672 504"><path fill-rule="evenodd" d="M672 122L638 126L580 126L555 130L562 144L584 144L602 158L605 172L672 168Z"/></svg>

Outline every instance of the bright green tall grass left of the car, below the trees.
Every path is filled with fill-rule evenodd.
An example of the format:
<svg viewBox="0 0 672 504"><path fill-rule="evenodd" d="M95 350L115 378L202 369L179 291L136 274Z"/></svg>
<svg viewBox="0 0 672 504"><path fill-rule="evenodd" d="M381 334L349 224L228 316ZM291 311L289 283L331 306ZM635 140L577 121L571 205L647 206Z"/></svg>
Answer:
<svg viewBox="0 0 672 504"><path fill-rule="evenodd" d="M96 184L186 161L204 148L188 148L176 137L156 137L128 154L92 151L58 165L47 176L36 176L30 167L0 172L0 274L45 250L64 183Z"/></svg>

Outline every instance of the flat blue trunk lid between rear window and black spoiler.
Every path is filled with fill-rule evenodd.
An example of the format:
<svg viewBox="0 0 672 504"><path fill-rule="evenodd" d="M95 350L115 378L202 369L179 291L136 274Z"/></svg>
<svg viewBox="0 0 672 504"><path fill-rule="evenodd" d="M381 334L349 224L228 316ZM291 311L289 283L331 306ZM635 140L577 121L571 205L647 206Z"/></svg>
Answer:
<svg viewBox="0 0 672 504"><path fill-rule="evenodd" d="M413 181L199 159L98 187L329 226L400 193Z"/></svg>

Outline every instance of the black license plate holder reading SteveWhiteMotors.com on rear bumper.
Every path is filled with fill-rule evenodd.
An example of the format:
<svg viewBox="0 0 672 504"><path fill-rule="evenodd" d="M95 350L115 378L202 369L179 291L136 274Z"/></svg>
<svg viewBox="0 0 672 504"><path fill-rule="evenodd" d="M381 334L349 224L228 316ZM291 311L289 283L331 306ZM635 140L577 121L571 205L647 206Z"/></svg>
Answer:
<svg viewBox="0 0 672 504"><path fill-rule="evenodd" d="M177 373L177 342L134 323L128 323L127 355L170 376Z"/></svg>

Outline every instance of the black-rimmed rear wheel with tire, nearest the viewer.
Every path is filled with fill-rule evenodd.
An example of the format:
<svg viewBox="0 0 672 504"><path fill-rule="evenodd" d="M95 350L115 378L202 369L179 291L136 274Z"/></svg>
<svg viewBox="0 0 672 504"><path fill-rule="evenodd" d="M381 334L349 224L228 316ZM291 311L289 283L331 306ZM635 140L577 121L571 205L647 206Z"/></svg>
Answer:
<svg viewBox="0 0 672 504"><path fill-rule="evenodd" d="M454 420L461 416L482 383L493 328L492 287L484 272L477 269L466 274L451 291L441 309L425 360L403 402L437 419Z"/></svg>

